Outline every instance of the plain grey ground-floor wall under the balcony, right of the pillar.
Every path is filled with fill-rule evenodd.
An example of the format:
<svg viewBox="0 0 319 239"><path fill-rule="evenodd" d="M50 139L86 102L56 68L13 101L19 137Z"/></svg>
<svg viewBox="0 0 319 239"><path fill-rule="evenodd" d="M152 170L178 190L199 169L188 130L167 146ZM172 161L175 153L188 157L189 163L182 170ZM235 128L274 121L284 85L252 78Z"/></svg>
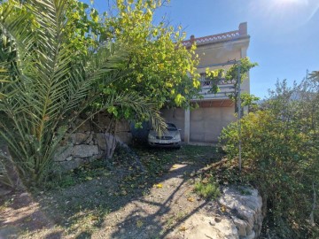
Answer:
<svg viewBox="0 0 319 239"><path fill-rule="evenodd" d="M234 107L207 107L191 111L191 142L218 142L222 128L233 122Z"/></svg>

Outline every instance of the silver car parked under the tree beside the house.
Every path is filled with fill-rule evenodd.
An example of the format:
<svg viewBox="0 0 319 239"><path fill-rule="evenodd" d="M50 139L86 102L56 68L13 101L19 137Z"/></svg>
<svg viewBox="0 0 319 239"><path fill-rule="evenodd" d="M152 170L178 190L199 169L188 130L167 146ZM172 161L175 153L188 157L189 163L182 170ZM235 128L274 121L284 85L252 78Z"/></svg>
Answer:
<svg viewBox="0 0 319 239"><path fill-rule="evenodd" d="M175 124L167 123L167 130L160 136L156 131L150 130L147 142L152 147L181 148L182 140L180 129L177 129Z"/></svg>

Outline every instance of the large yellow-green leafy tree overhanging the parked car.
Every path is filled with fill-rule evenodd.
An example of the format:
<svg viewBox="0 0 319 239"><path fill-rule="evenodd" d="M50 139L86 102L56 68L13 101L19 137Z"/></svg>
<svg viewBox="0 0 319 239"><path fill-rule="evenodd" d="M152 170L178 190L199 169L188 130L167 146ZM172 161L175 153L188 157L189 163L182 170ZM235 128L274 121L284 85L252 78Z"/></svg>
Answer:
<svg viewBox="0 0 319 239"><path fill-rule="evenodd" d="M91 105L93 108L99 108L110 96L122 94L140 96L157 111L163 106L190 107L191 98L198 95L199 90L195 73L198 59L193 56L194 48L187 50L183 46L185 33L181 27L170 27L165 19L159 24L153 23L153 14L162 5L160 1L116 1L102 15L86 4L75 0L72 3L75 11L69 12L69 18L75 24L70 31L70 42L76 51L86 54L87 49L97 47L97 42L99 45L117 42L128 50L128 58L121 65L121 71L114 75L114 81L111 84L98 82L99 94ZM90 17L86 13L89 11ZM143 121L152 121L147 112L136 113L130 104L113 104L106 112L112 120L131 120L136 127ZM110 134L116 133L115 126L116 123L107 129Z"/></svg>

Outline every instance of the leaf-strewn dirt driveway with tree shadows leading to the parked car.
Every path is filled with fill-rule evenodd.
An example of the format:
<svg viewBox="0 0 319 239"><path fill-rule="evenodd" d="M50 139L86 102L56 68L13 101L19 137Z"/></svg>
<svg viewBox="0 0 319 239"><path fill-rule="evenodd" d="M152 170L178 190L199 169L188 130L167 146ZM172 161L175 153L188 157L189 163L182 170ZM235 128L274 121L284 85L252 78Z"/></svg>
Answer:
<svg viewBox="0 0 319 239"><path fill-rule="evenodd" d="M183 221L218 213L193 192L198 170L221 159L216 148L136 149L145 171L119 152L113 162L51 179L51 187L1 199L0 238L183 238ZM177 237L176 237L177 236Z"/></svg>

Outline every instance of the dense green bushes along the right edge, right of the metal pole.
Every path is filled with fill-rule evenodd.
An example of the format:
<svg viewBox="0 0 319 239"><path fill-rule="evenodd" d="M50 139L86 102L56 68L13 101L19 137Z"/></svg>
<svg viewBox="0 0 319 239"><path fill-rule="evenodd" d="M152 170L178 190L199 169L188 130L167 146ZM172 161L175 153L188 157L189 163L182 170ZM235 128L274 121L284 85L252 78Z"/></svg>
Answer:
<svg viewBox="0 0 319 239"><path fill-rule="evenodd" d="M268 226L284 238L318 233L313 196L319 192L318 86L310 79L292 88L277 82L263 111L241 120L243 180L261 190L268 204ZM221 140L230 158L237 158L237 123L222 131Z"/></svg>

